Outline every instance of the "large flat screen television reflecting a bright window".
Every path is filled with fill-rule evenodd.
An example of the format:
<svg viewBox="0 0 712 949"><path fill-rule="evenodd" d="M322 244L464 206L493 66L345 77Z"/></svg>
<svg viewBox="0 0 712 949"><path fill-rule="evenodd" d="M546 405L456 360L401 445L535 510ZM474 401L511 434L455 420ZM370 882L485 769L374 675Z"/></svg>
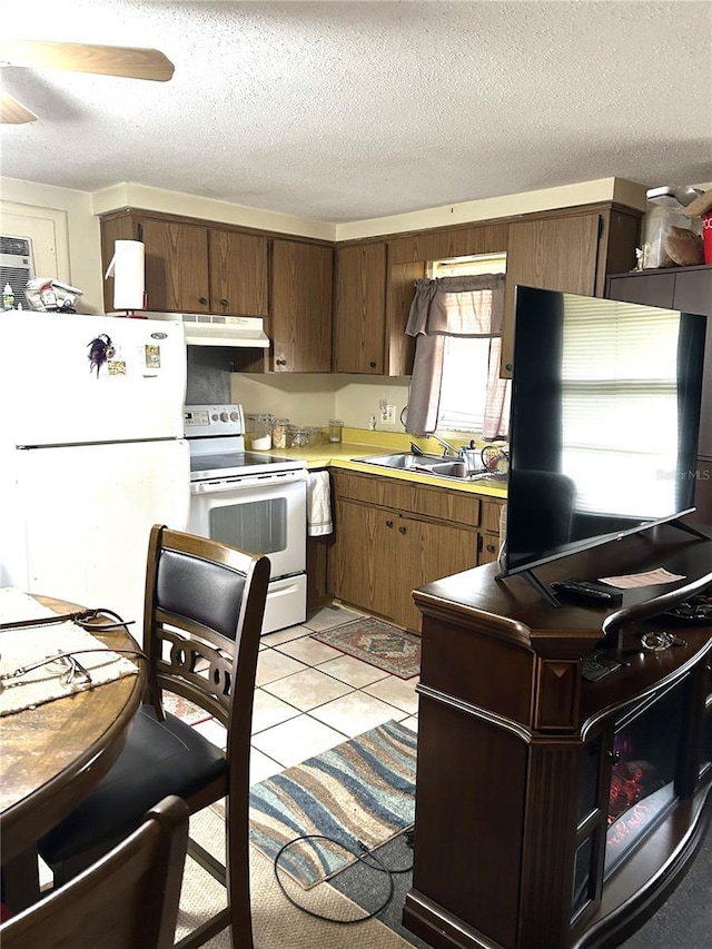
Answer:
<svg viewBox="0 0 712 949"><path fill-rule="evenodd" d="M705 326L680 310L516 287L497 579L523 574L557 604L534 567L694 511Z"/></svg>

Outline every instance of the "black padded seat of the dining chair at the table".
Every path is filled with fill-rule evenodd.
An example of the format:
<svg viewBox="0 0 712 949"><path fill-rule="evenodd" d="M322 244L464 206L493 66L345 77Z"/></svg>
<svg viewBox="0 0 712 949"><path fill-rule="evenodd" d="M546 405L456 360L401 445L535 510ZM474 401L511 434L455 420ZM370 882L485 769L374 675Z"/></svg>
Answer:
<svg viewBox="0 0 712 949"><path fill-rule="evenodd" d="M151 705L136 715L118 760L76 810L39 843L50 866L128 836L168 794L189 799L226 772L220 750L174 715Z"/></svg>

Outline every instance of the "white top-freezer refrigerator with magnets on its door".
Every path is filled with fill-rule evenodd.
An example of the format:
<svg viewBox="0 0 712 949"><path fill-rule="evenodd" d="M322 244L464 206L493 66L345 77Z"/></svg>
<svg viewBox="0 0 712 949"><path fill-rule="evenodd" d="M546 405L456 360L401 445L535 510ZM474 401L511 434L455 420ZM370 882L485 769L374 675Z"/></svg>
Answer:
<svg viewBox="0 0 712 949"><path fill-rule="evenodd" d="M186 530L178 320L0 313L0 585L140 633L155 523Z"/></svg>

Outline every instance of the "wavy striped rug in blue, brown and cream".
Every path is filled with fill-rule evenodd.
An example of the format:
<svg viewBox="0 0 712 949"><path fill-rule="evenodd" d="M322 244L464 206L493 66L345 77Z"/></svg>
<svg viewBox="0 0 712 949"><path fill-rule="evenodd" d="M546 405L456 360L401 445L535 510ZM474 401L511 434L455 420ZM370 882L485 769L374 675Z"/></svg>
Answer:
<svg viewBox="0 0 712 949"><path fill-rule="evenodd" d="M304 834L323 834L349 850L370 851L415 820L417 737L390 721L288 768L250 789L250 841L274 860ZM304 889L356 861L325 840L300 840L284 851L279 869Z"/></svg>

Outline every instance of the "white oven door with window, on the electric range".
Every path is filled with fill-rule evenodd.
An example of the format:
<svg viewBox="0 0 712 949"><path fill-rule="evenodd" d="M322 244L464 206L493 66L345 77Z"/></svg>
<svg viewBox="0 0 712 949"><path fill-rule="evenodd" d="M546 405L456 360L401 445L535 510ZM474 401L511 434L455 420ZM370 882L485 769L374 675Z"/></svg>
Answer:
<svg viewBox="0 0 712 949"><path fill-rule="evenodd" d="M198 482L188 530L253 554L267 554L271 580L306 570L306 473Z"/></svg>

